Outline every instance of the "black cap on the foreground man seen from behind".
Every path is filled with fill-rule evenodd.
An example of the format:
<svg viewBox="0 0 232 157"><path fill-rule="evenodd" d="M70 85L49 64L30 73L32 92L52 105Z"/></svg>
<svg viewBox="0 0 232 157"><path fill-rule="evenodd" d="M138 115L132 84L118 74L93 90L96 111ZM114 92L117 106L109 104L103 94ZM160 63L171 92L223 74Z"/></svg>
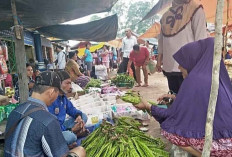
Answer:
<svg viewBox="0 0 232 157"><path fill-rule="evenodd" d="M52 71L42 72L39 76L35 78L35 84L56 87L60 91L62 91L61 79L56 72L52 72Z"/></svg>

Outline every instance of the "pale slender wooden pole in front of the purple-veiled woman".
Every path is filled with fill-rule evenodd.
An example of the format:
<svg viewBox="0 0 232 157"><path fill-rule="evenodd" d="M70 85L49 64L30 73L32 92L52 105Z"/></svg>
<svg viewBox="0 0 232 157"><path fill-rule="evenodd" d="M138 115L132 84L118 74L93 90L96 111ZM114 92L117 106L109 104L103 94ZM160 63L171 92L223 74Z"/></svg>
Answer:
<svg viewBox="0 0 232 157"><path fill-rule="evenodd" d="M207 112L207 120L205 126L205 144L202 152L202 157L209 157L213 140L213 121L217 103L218 88L219 88L219 72L222 56L222 18L223 18L224 0L218 0L217 11L215 18L215 41L214 41L214 57L212 69L212 85L209 98L209 106Z"/></svg>

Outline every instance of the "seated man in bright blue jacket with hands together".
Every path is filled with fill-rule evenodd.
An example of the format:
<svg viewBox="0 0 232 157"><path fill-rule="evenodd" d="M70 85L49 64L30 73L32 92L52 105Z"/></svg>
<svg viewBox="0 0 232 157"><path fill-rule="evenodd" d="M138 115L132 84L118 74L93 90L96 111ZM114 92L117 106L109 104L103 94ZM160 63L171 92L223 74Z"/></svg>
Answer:
<svg viewBox="0 0 232 157"><path fill-rule="evenodd" d="M63 131L64 138L68 145L72 145L77 141L77 135L72 132L72 128L76 123L87 122L86 114L77 110L72 102L65 95L71 90L71 78L69 74L62 70L58 71L57 74L61 79L61 89L57 99L48 107L50 113L55 115L60 123L61 130ZM66 120L66 114L70 116L70 119ZM83 126L84 127L84 126ZM70 131L69 131L70 130Z"/></svg>

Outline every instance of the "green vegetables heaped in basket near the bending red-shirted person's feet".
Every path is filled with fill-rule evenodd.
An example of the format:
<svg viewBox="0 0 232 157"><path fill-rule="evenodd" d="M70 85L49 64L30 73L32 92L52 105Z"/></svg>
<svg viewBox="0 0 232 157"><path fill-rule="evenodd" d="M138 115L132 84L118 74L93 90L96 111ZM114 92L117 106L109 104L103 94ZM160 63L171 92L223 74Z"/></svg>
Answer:
<svg viewBox="0 0 232 157"><path fill-rule="evenodd" d="M135 79L129 75L119 74L113 78L112 83L118 87L133 87L135 84Z"/></svg>

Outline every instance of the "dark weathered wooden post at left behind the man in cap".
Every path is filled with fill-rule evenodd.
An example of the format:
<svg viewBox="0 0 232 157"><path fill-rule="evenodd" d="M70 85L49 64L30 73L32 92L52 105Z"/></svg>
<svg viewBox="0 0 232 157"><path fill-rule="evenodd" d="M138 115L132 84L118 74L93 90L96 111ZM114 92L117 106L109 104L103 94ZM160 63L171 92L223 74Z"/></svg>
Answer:
<svg viewBox="0 0 232 157"><path fill-rule="evenodd" d="M28 98L28 78L26 70L26 53L24 47L23 26L18 23L15 0L11 0L11 9L14 20L15 32L15 58L19 82L20 102L25 102Z"/></svg>

